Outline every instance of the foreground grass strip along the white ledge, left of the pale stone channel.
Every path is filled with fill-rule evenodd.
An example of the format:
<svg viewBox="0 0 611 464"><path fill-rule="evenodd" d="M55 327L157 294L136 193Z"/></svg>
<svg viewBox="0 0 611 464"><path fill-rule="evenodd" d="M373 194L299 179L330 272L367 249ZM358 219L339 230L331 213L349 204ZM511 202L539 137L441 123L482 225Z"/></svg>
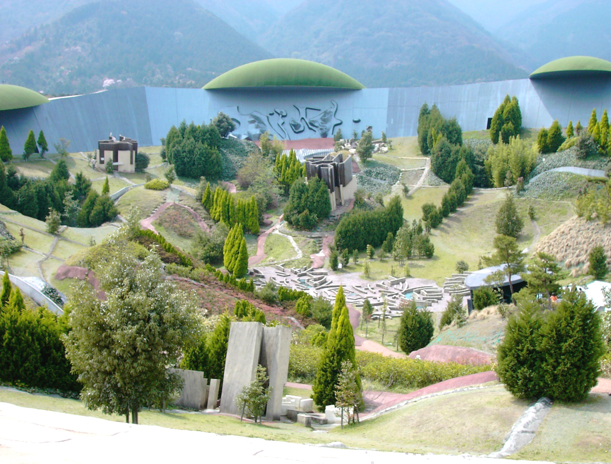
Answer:
<svg viewBox="0 0 611 464"><path fill-rule="evenodd" d="M309 391L287 389L285 393L301 396ZM117 422L124 420L116 414L89 411L77 400L0 391L0 401ZM254 425L213 414L142 411L139 419L147 425L294 443L341 441L348 447L381 451L488 454L500 449L511 425L526 406L526 402L514 399L502 386L492 386L422 400L343 430L327 429L327 433L312 433L312 429L298 424Z"/></svg>

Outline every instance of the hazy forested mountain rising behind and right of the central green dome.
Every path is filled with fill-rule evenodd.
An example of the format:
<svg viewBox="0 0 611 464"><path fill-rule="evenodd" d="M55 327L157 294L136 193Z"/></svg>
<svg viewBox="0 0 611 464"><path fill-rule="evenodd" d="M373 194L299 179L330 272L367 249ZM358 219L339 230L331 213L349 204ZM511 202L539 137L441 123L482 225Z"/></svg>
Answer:
<svg viewBox="0 0 611 464"><path fill-rule="evenodd" d="M310 0L269 28L262 44L277 56L334 66L370 87L526 75L502 45L446 0Z"/></svg>

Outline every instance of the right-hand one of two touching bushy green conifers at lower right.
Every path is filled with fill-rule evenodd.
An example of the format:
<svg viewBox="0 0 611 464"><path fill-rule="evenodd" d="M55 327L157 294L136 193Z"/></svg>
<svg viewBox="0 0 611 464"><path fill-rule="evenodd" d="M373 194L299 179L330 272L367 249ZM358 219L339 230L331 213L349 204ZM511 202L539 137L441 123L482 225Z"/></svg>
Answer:
<svg viewBox="0 0 611 464"><path fill-rule="evenodd" d="M541 330L538 348L545 355L539 366L545 395L560 401L585 400L598 382L604 353L601 319L585 293L563 293Z"/></svg>

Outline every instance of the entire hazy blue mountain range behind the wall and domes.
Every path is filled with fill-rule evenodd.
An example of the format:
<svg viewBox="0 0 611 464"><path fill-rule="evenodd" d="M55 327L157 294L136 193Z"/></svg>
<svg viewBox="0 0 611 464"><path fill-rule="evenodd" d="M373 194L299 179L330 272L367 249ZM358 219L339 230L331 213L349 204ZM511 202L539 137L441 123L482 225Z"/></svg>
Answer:
<svg viewBox="0 0 611 464"><path fill-rule="evenodd" d="M193 87L273 56L368 87L522 78L570 54L611 59L610 17L609 0L5 0L0 80Z"/></svg>

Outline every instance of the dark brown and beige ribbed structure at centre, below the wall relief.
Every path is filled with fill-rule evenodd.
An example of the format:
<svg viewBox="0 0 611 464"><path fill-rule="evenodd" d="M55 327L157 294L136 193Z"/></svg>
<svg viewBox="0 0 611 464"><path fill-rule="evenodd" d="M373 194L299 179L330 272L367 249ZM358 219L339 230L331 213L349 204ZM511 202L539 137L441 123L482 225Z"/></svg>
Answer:
<svg viewBox="0 0 611 464"><path fill-rule="evenodd" d="M345 205L354 199L356 177L352 175L352 157L343 159L342 153L313 156L305 161L307 179L322 179L329 188L331 210Z"/></svg>

